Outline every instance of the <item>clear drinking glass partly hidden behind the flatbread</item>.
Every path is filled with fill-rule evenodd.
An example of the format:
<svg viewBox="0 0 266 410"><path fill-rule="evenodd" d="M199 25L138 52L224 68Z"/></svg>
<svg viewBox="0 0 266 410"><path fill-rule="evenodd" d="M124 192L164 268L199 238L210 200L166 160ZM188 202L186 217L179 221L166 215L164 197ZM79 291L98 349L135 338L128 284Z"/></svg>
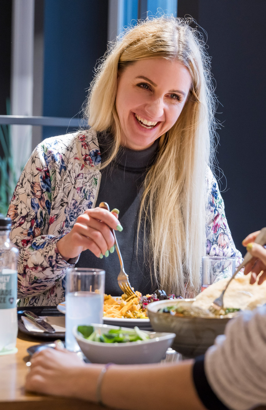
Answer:
<svg viewBox="0 0 266 410"><path fill-rule="evenodd" d="M217 276L224 274L232 276L236 269L236 260L233 257L203 256L201 272L201 292L212 285Z"/></svg>

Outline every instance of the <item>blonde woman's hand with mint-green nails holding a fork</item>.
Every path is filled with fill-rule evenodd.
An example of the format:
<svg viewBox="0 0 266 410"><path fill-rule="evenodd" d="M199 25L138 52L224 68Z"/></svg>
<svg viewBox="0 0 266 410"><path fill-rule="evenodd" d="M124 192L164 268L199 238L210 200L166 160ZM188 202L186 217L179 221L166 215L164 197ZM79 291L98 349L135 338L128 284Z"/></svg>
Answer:
<svg viewBox="0 0 266 410"><path fill-rule="evenodd" d="M97 257L113 253L115 239L110 228L121 231L117 221L118 210L111 212L103 208L89 209L79 215L72 230L59 239L56 246L65 260L77 257L89 249Z"/></svg>

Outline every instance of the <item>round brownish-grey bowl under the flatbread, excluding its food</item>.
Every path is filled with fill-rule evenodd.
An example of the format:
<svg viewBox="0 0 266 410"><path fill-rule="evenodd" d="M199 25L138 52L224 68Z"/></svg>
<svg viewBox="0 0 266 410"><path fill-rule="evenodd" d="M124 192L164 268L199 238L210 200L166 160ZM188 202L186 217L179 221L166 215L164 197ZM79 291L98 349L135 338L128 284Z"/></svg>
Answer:
<svg viewBox="0 0 266 410"><path fill-rule="evenodd" d="M191 304L195 299L166 300L149 303L148 315L156 332L174 332L172 348L182 355L193 358L205 353L212 346L216 336L222 335L230 318L225 317L180 317L160 313L159 309L174 306L180 302Z"/></svg>

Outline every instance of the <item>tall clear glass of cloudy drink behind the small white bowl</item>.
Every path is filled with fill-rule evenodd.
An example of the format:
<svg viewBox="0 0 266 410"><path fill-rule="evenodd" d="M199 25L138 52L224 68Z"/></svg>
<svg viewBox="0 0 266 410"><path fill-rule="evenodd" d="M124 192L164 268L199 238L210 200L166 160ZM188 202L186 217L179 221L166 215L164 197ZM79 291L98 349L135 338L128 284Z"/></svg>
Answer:
<svg viewBox="0 0 266 410"><path fill-rule="evenodd" d="M93 268L69 268L65 290L65 346L77 352L79 345L72 334L77 325L103 323L105 271Z"/></svg>

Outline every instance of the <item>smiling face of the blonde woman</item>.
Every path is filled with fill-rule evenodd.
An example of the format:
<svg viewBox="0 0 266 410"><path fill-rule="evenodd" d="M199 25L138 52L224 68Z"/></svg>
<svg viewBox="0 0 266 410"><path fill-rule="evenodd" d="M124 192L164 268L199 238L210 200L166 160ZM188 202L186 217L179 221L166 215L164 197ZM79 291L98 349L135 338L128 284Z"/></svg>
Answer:
<svg viewBox="0 0 266 410"><path fill-rule="evenodd" d="M191 82L187 67L164 58L138 60L119 73L116 109L123 144L143 150L167 132L184 107Z"/></svg>

